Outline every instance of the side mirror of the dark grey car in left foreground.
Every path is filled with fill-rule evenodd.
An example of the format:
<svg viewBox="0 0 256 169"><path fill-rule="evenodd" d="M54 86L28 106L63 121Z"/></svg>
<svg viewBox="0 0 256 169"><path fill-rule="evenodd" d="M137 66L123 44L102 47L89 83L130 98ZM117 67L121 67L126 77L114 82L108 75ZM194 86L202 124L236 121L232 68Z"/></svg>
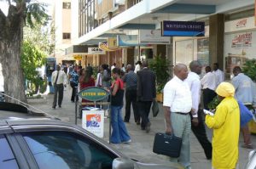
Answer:
<svg viewBox="0 0 256 169"><path fill-rule="evenodd" d="M134 169L134 161L125 158L116 158L112 163L113 169Z"/></svg>

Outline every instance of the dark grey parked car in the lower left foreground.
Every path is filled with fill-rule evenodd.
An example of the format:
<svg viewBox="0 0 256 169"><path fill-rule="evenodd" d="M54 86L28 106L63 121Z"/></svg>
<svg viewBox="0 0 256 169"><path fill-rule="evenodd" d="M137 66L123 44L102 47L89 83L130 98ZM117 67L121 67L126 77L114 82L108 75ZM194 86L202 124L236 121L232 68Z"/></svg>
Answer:
<svg viewBox="0 0 256 169"><path fill-rule="evenodd" d="M30 108L0 102L0 168L180 169L132 160L83 128Z"/></svg>

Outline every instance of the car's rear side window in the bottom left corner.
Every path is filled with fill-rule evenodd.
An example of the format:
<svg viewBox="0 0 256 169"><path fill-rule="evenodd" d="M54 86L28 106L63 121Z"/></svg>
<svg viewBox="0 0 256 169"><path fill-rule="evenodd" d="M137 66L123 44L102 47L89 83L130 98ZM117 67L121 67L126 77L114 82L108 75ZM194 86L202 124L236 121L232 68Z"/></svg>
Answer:
<svg viewBox="0 0 256 169"><path fill-rule="evenodd" d="M15 155L3 135L0 135L0 168L19 168Z"/></svg>

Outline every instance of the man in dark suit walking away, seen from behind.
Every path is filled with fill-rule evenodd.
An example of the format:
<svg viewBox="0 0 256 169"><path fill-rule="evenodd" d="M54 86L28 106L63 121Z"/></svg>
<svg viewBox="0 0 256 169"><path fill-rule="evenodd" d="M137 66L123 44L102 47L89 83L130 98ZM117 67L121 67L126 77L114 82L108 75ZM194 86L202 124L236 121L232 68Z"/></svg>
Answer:
<svg viewBox="0 0 256 169"><path fill-rule="evenodd" d="M142 117L141 128L146 132L150 131L151 123L148 114L155 97L155 75L152 70L148 69L148 62L143 61L143 69L137 71L137 106Z"/></svg>

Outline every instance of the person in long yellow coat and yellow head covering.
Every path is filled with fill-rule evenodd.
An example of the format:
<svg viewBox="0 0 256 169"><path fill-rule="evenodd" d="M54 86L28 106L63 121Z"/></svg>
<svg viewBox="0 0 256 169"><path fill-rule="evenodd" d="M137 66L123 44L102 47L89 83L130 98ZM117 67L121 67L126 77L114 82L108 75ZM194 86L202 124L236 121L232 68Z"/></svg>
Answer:
<svg viewBox="0 0 256 169"><path fill-rule="evenodd" d="M222 82L216 89L221 100L215 115L206 116L207 127L213 129L212 167L234 169L238 161L238 139L240 132L240 110L234 98L235 88Z"/></svg>

